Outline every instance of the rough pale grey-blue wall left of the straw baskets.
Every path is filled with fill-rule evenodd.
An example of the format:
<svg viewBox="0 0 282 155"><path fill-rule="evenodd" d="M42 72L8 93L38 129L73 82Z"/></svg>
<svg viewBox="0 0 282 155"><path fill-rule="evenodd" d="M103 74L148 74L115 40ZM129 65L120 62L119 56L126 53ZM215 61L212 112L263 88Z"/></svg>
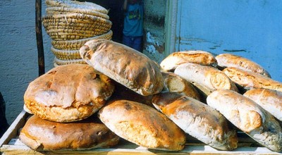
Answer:
<svg viewBox="0 0 282 155"><path fill-rule="evenodd" d="M42 13L45 10L42 1ZM23 94L38 76L35 37L35 1L0 1L0 91L11 124L23 109ZM45 70L53 68L50 39L44 28Z"/></svg>

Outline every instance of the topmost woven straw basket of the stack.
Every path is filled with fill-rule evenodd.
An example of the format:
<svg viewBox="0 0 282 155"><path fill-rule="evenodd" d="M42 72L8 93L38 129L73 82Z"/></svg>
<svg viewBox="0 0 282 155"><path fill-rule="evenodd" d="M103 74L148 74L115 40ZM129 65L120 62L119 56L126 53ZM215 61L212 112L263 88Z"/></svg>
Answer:
<svg viewBox="0 0 282 155"><path fill-rule="evenodd" d="M90 2L80 2L80 1L70 1L70 0L46 0L46 4L48 7L67 7L67 8L79 8L85 9L89 11L97 11L100 13L108 14L109 11L106 8L99 6L97 4L93 4Z"/></svg>

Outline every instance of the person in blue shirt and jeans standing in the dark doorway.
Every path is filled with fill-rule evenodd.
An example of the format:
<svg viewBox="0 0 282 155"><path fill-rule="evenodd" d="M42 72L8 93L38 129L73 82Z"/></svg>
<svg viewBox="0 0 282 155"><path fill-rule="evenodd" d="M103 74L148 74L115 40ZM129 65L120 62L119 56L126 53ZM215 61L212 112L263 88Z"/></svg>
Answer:
<svg viewBox="0 0 282 155"><path fill-rule="evenodd" d="M123 2L123 11L125 12L123 44L142 52L144 12L142 0L125 0Z"/></svg>

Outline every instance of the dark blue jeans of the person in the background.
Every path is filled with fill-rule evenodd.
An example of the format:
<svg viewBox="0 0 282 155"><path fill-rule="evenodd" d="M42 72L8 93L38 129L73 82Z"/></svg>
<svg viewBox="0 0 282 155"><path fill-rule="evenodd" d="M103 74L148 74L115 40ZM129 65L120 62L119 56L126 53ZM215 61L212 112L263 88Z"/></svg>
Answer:
<svg viewBox="0 0 282 155"><path fill-rule="evenodd" d="M142 52L142 36L139 37L130 37L123 35L123 44L130 46L131 48Z"/></svg>

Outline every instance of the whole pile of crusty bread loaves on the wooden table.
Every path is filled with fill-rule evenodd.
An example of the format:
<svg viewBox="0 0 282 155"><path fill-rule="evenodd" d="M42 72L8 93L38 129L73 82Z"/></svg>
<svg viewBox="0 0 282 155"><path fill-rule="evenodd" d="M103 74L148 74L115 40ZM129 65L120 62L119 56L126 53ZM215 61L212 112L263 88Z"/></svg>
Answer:
<svg viewBox="0 0 282 155"><path fill-rule="evenodd" d="M79 51L87 64L58 66L27 87L25 106L35 116L25 124L20 140L32 149L101 147L106 142L86 145L90 140L75 129L72 136L59 138L63 128L71 128L71 122L77 122L74 124L80 131L88 131L79 121L99 118L109 130L106 132L113 134L98 134L108 142L103 147L111 147L121 137L149 149L180 151L189 142L187 134L215 149L233 150L240 146L240 130L258 144L282 151L278 123L282 118L281 83L265 77L275 83L274 87L240 84L243 77L233 78L224 71L231 68L226 62L233 58L223 64L219 56L207 51L179 51L159 65L139 51L108 39L87 41ZM265 76L260 66L243 60L248 64L238 70L247 68L249 71L244 72L248 75ZM233 68L243 64L240 61L231 61ZM35 130L46 136L40 137ZM74 137L87 142L73 147L77 144L69 142L77 142Z"/></svg>

